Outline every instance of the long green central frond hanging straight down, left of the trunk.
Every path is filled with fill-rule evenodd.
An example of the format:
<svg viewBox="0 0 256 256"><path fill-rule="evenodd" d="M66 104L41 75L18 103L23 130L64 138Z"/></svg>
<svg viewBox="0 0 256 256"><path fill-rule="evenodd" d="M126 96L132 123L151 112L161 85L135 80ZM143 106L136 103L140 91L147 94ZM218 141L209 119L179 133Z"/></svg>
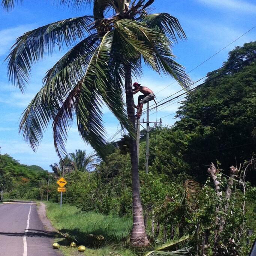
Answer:
<svg viewBox="0 0 256 256"><path fill-rule="evenodd" d="M108 79L108 60L113 39L113 31L109 31L94 52L87 67L81 93L76 105L76 117L79 134L85 142L104 157L105 129L102 125L102 99L106 99L106 83ZM100 98L101 97L101 98ZM108 102L106 102L108 103Z"/></svg>

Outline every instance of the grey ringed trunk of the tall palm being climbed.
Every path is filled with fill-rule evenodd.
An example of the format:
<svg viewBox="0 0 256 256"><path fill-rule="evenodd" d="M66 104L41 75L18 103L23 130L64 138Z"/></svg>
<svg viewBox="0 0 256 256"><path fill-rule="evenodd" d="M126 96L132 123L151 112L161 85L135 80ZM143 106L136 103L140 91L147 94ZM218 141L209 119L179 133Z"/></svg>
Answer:
<svg viewBox="0 0 256 256"><path fill-rule="evenodd" d="M124 66L125 72L125 89L132 91L132 72L131 66ZM133 94L126 93L126 105L128 118L133 125L135 134L135 111ZM131 234L131 242L136 246L147 246L149 244L145 231L143 210L141 204L141 195L139 192L139 168L136 140L131 138L131 165L132 165L132 205L133 205L133 226Z"/></svg>

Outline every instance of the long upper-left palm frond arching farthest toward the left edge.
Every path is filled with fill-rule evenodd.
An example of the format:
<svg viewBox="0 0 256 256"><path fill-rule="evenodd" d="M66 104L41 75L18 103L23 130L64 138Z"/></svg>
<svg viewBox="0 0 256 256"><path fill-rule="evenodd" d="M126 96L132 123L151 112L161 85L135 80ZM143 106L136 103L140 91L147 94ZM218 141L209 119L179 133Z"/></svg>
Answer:
<svg viewBox="0 0 256 256"><path fill-rule="evenodd" d="M29 80L31 64L42 59L45 54L52 54L57 45L61 49L78 39L84 39L91 21L91 16L64 19L19 37L6 58L9 80L23 91Z"/></svg>

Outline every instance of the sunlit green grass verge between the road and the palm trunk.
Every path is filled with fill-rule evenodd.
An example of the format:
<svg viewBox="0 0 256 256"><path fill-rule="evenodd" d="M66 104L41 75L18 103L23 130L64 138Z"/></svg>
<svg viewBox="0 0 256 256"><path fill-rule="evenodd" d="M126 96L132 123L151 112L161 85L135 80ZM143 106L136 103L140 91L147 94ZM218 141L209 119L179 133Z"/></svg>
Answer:
<svg viewBox="0 0 256 256"><path fill-rule="evenodd" d="M92 256L135 256L129 248L124 246L132 228L132 219L118 216L106 216L95 212L81 212L71 205L60 205L45 202L46 214L52 225L66 238L58 238L64 255L83 255L72 249L72 240L76 244L87 247L84 255ZM89 235L91 234L91 235ZM104 239L102 239L102 236ZM75 238L75 239L72 239Z"/></svg>

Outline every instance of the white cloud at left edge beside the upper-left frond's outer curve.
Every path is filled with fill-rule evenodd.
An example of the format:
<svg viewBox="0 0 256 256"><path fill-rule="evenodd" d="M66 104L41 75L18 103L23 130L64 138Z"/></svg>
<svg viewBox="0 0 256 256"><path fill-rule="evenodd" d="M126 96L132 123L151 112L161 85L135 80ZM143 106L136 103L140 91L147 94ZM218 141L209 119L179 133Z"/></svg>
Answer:
<svg viewBox="0 0 256 256"><path fill-rule="evenodd" d="M27 24L0 30L0 55L6 54L16 39L33 27L32 24Z"/></svg>

